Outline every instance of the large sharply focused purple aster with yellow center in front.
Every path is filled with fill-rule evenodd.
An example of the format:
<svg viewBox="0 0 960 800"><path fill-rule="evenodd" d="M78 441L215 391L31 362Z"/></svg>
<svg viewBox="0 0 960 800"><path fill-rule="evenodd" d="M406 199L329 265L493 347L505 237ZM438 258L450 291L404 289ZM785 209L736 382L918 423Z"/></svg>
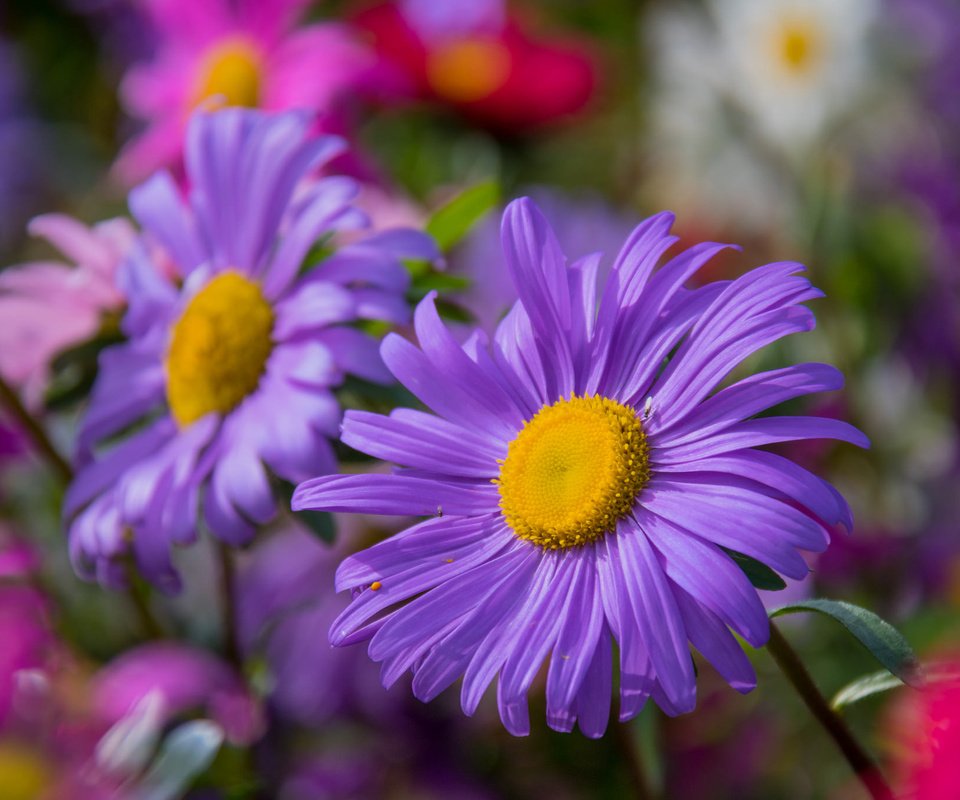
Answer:
<svg viewBox="0 0 960 800"><path fill-rule="evenodd" d="M794 262L685 289L726 245L655 270L672 223L664 213L636 228L598 295L599 256L568 266L536 206L518 200L502 235L519 301L493 342L477 333L458 345L432 297L414 316L419 349L384 340L389 369L434 414L347 412L343 441L402 468L314 478L294 508L430 517L337 571L353 600L331 641L369 639L386 685L410 670L430 700L463 676L472 714L499 675L501 718L523 735L549 656L550 726L577 722L593 737L609 716L614 642L621 720L650 697L668 714L694 707L690 643L735 689L755 685L731 629L759 647L769 624L729 551L799 579L799 551L823 550L831 524L852 525L833 487L757 448L868 442L839 420L754 418L839 388L825 364L717 389L756 350L810 330L800 304L821 293Z"/></svg>

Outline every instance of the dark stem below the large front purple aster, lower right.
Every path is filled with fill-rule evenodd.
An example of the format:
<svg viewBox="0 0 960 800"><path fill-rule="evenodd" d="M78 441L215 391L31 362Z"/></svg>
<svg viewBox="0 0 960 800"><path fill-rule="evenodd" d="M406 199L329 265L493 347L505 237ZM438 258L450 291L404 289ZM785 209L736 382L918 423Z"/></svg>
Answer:
<svg viewBox="0 0 960 800"><path fill-rule="evenodd" d="M817 722L824 727L837 747L840 748L844 758L847 759L870 796L875 800L892 800L893 792L876 762L860 746L843 718L827 704L796 651L772 621L770 622L770 641L767 643L767 651L787 677L787 680L793 684L793 688L797 690L797 694L806 703Z"/></svg>

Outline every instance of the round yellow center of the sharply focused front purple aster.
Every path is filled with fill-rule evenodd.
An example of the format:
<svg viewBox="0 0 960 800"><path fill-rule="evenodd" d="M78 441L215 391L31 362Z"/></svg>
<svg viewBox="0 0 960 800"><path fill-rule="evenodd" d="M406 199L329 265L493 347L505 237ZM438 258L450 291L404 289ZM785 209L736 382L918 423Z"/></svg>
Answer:
<svg viewBox="0 0 960 800"><path fill-rule="evenodd" d="M513 532L556 550L612 531L649 479L648 461L634 409L571 395L524 424L494 483Z"/></svg>

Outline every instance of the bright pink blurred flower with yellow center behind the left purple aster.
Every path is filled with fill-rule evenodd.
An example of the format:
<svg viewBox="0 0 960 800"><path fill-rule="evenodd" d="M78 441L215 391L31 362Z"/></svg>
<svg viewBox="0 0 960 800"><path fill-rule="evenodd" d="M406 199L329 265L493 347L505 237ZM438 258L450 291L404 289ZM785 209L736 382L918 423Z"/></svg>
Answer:
<svg viewBox="0 0 960 800"><path fill-rule="evenodd" d="M132 184L176 166L187 119L203 104L309 109L321 127L336 127L337 101L373 57L344 26L294 30L307 1L144 0L156 51L131 68L121 96L147 128L120 154L117 176Z"/></svg>

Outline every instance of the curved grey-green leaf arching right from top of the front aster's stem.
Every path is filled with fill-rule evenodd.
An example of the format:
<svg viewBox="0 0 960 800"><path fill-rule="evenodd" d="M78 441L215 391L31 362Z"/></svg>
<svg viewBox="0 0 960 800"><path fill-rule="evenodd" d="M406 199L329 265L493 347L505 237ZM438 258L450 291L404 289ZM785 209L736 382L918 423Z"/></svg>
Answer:
<svg viewBox="0 0 960 800"><path fill-rule="evenodd" d="M842 600L814 598L776 608L770 619L784 614L815 611L832 617L846 628L888 671L911 686L919 684L917 658L900 632L872 611Z"/></svg>

